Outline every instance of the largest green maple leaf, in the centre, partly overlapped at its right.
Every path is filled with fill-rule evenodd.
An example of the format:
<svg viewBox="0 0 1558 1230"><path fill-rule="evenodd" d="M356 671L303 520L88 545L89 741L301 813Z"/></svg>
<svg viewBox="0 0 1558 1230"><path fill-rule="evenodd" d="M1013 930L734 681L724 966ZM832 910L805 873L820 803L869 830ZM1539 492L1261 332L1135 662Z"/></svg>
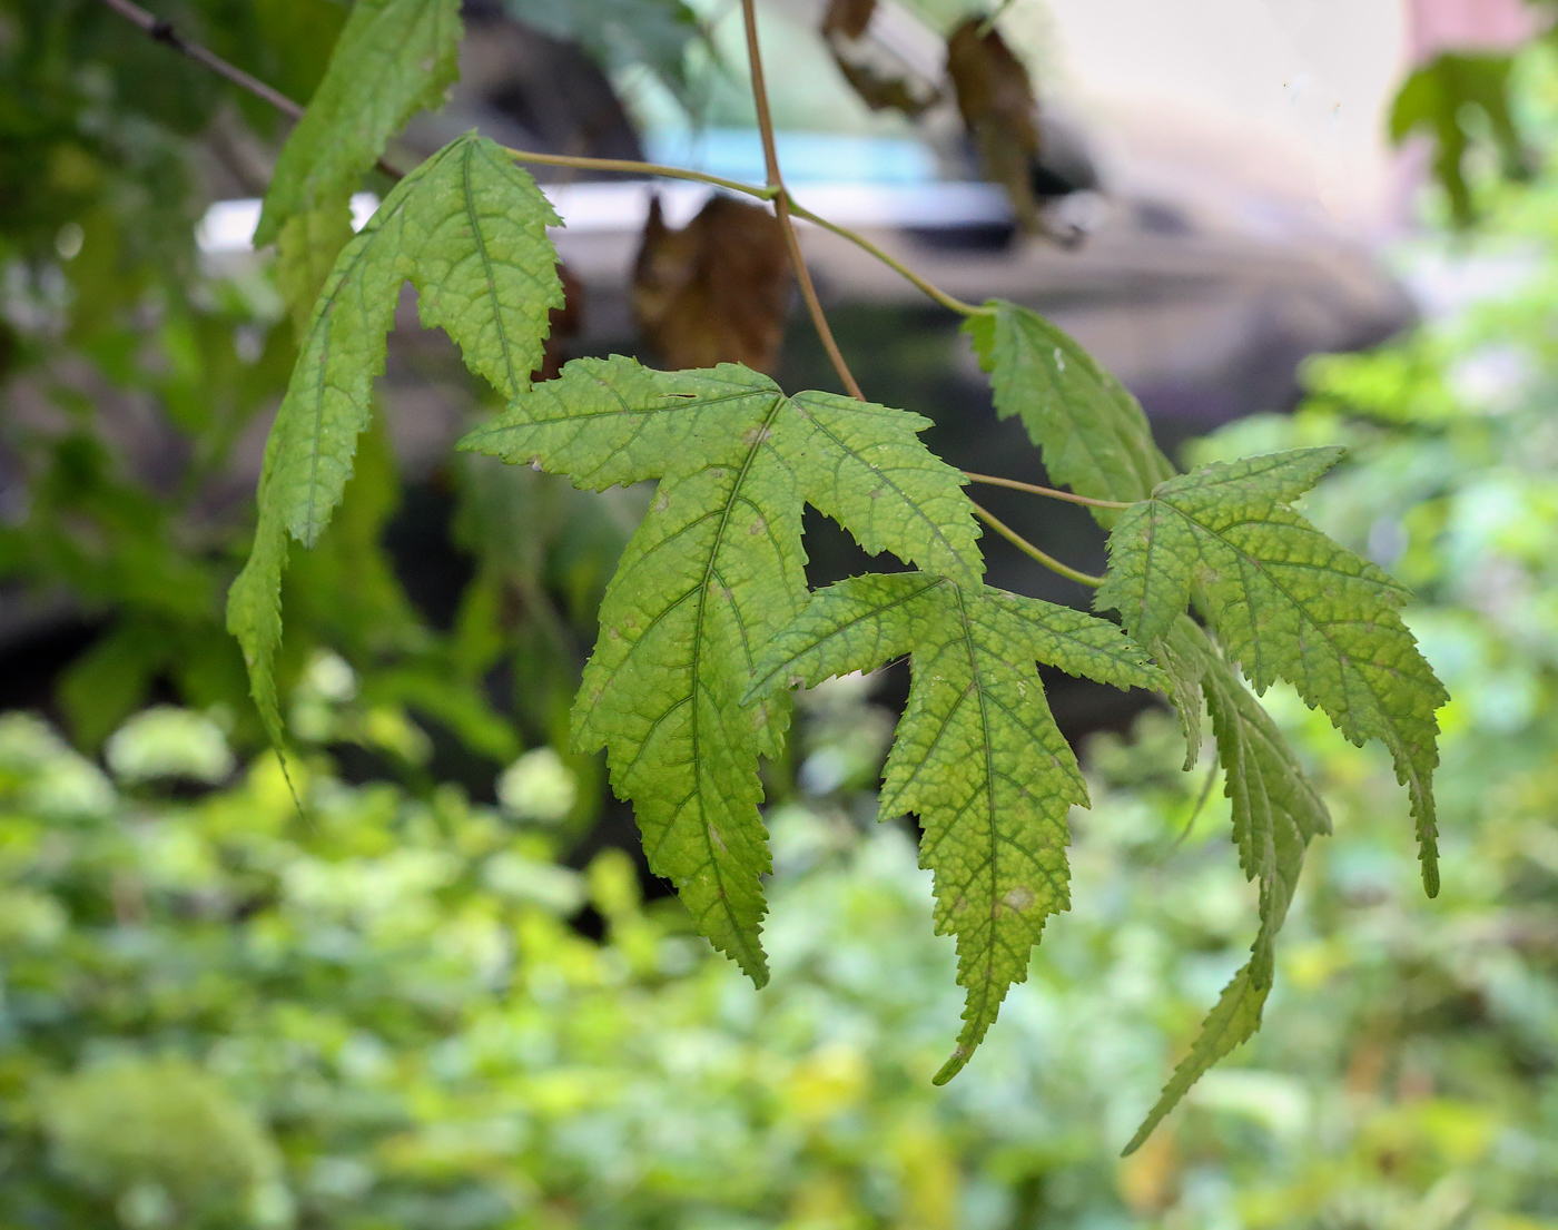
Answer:
<svg viewBox="0 0 1558 1230"><path fill-rule="evenodd" d="M650 867L759 985L757 759L779 751L788 709L742 692L805 605L802 502L872 553L977 581L963 475L919 443L927 426L832 393L790 398L738 365L662 373L612 357L569 363L460 444L594 490L661 480L606 589L575 737L605 745Z"/></svg>

